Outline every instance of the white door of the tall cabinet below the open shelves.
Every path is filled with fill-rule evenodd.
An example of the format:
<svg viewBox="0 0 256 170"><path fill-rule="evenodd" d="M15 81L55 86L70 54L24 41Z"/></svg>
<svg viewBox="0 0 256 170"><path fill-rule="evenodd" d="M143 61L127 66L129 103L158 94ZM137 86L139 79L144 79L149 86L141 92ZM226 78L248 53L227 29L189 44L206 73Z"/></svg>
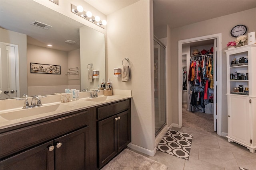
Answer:
<svg viewBox="0 0 256 170"><path fill-rule="evenodd" d="M250 98L228 95L228 136L250 145Z"/></svg>

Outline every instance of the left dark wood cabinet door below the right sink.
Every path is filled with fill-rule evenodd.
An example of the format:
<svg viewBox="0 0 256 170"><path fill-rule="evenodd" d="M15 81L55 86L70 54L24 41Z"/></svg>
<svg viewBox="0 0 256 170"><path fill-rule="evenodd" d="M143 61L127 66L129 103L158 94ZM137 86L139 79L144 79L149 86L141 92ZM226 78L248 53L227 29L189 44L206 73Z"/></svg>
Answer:
<svg viewBox="0 0 256 170"><path fill-rule="evenodd" d="M98 121L98 158L99 168L117 153L116 115Z"/></svg>

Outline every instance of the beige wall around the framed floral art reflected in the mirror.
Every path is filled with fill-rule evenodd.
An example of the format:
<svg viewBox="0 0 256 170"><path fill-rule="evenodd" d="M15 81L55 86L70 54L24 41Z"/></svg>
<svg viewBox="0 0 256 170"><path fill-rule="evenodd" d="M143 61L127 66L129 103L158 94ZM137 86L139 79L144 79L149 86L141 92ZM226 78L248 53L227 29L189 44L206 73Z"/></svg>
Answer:
<svg viewBox="0 0 256 170"><path fill-rule="evenodd" d="M59 86L68 84L68 53L27 45L28 86ZM30 63L60 65L61 74L30 73Z"/></svg>

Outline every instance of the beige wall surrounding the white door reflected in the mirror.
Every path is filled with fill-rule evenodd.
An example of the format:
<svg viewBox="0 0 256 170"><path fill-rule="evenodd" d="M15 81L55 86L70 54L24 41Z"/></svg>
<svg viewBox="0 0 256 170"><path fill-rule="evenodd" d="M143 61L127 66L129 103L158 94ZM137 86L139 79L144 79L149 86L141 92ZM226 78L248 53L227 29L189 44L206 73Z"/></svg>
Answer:
<svg viewBox="0 0 256 170"><path fill-rule="evenodd" d="M27 35L0 28L0 41L19 45L20 94L28 94L27 89Z"/></svg>

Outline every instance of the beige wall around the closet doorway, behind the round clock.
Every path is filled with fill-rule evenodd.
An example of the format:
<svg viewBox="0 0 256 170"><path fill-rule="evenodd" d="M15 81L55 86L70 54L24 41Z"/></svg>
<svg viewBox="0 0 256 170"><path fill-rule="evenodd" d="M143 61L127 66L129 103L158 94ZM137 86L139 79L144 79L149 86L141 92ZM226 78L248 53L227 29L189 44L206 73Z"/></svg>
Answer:
<svg viewBox="0 0 256 170"><path fill-rule="evenodd" d="M256 31L256 8L206 20L183 27L171 29L170 37L172 39L171 51L171 74L172 81L172 123L178 123L178 41L205 35L222 33L222 132L227 133L227 80L226 80L226 44L234 41L234 37L230 35L232 27L238 24L247 26L248 32ZM169 57L169 56L168 56ZM168 76L168 79L170 77ZM168 80L169 81L169 80Z"/></svg>

